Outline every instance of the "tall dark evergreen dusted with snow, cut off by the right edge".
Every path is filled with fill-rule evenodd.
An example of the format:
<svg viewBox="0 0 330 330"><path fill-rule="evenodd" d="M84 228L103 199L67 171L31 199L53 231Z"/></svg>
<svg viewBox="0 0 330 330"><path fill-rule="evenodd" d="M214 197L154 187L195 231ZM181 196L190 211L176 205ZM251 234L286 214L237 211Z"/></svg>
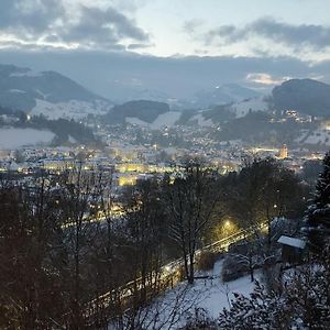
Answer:
<svg viewBox="0 0 330 330"><path fill-rule="evenodd" d="M330 152L316 185L314 204L307 211L307 233L312 251L320 251L330 234Z"/></svg>

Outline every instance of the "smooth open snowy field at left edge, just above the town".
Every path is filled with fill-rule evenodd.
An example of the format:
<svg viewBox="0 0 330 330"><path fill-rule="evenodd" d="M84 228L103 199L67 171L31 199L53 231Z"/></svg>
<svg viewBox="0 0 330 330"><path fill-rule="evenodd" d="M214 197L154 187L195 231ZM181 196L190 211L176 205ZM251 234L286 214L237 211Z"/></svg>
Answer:
<svg viewBox="0 0 330 330"><path fill-rule="evenodd" d="M47 144L55 134L34 129L0 129L0 148L19 148L28 145Z"/></svg>

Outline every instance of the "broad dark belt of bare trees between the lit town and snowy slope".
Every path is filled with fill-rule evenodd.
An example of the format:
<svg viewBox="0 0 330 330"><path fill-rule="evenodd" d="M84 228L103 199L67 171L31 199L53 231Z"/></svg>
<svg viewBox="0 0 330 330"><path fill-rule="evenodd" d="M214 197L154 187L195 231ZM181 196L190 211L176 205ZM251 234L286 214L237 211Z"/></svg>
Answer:
<svg viewBox="0 0 330 330"><path fill-rule="evenodd" d="M254 224L298 215L304 195L272 160L227 177L195 161L119 196L112 187L111 172L82 163L29 184L1 179L0 328L102 329L111 320L143 329L145 306L164 289L163 266L182 257L194 283L197 251L212 242L223 215L250 238Z"/></svg>

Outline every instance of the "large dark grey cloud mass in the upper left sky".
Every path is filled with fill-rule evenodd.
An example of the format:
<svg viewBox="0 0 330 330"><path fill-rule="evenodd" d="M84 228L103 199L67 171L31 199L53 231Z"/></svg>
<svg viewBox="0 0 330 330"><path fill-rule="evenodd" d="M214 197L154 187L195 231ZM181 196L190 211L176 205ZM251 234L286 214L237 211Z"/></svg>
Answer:
<svg viewBox="0 0 330 330"><path fill-rule="evenodd" d="M13 36L7 41L8 46L20 48L35 48L38 42L42 47L46 42L109 51L124 50L124 40L142 46L150 42L134 20L114 8L77 3L76 12L70 14L62 0L2 0L0 33Z"/></svg>

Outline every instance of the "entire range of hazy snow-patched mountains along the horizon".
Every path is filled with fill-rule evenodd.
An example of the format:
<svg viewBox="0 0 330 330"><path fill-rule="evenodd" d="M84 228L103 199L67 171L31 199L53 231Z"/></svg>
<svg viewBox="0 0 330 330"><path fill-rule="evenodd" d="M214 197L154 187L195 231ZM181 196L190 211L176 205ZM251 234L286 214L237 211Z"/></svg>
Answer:
<svg viewBox="0 0 330 330"><path fill-rule="evenodd" d="M226 119L245 117L249 112L288 109L330 117L330 85L312 79L287 80L276 86L271 97L238 84L196 92L189 100L172 99L165 94L150 92L143 88L136 89L136 100L113 106L108 99L59 73L35 73L26 67L0 64L0 107L32 116L43 114L50 120L80 120L88 114L100 114L113 124L153 125L157 122L158 127L164 121L164 125L173 125L177 118L178 124L197 121L210 125ZM179 116L172 109L194 109L195 112Z"/></svg>

